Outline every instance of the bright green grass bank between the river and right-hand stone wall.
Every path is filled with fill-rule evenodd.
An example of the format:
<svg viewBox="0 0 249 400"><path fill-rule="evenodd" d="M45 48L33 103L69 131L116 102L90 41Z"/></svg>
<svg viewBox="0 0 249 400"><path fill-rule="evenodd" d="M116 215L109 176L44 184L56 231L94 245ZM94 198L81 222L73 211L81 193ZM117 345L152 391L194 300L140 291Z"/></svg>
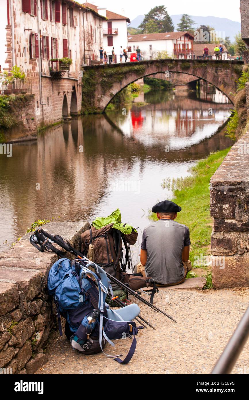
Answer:
<svg viewBox="0 0 249 400"><path fill-rule="evenodd" d="M211 153L209 157L198 161L190 168L190 176L173 180L170 184L173 190L171 200L182 208L182 211L177 214L176 221L189 227L191 240L189 259L192 266L196 260L195 256L210 254L212 218L210 217L209 181L229 150L230 148L227 148ZM155 213L151 213L150 217L157 220ZM203 267L200 266L200 268ZM188 273L189 278L194 277L191 272Z"/></svg>

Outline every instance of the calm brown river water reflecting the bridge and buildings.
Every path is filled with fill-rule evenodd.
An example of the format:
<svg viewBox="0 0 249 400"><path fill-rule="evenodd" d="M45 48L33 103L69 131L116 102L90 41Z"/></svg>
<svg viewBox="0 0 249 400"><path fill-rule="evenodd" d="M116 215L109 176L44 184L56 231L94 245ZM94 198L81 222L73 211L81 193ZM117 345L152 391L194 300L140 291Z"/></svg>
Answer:
<svg viewBox="0 0 249 400"><path fill-rule="evenodd" d="M197 160L231 146L220 129L231 107L217 90L159 90L13 144L12 157L0 154L0 249L38 218L92 222L120 208L122 222L138 227L136 259L149 210L171 196L163 180L185 177Z"/></svg>

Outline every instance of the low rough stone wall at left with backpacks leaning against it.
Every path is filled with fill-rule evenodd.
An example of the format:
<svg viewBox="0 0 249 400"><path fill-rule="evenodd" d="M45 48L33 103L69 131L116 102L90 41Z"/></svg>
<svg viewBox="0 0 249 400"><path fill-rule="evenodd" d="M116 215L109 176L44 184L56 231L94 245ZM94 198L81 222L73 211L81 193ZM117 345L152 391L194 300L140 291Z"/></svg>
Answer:
<svg viewBox="0 0 249 400"><path fill-rule="evenodd" d="M44 225L49 233L60 234L75 247L80 243L80 234L89 227L84 221ZM44 348L55 328L56 316L47 292L47 278L56 260L56 254L36 250L30 244L30 234L0 253L1 373L33 374L48 360Z"/></svg>

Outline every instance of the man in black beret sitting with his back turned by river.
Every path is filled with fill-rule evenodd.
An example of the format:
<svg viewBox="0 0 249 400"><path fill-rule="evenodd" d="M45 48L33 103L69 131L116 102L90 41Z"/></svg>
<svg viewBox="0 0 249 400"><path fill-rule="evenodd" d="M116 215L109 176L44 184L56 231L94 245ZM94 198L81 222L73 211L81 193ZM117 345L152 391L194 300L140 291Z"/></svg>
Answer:
<svg viewBox="0 0 249 400"><path fill-rule="evenodd" d="M137 273L151 276L158 286L183 283L192 269L189 261L189 228L175 222L181 207L164 200L152 208L159 221L143 230Z"/></svg>

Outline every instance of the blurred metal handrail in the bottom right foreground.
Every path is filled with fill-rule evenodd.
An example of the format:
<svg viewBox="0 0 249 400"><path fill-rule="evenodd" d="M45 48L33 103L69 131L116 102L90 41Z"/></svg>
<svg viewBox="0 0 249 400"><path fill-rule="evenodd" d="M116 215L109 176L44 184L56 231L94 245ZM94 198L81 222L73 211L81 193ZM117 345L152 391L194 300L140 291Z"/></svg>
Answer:
<svg viewBox="0 0 249 400"><path fill-rule="evenodd" d="M241 318L211 374L230 374L249 337L249 307Z"/></svg>

